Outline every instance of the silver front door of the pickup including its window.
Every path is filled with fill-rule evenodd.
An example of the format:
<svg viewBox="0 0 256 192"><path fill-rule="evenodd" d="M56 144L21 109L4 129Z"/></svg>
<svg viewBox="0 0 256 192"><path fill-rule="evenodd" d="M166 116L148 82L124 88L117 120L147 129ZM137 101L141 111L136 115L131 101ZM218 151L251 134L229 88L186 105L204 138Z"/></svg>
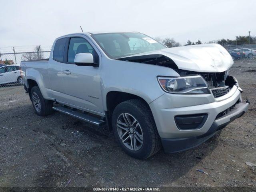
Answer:
<svg viewBox="0 0 256 192"><path fill-rule="evenodd" d="M78 66L74 63L76 54L91 53L94 60L98 53L84 37L71 37L68 46L68 60L62 64L65 102L92 112L104 113L100 89L100 69L93 66Z"/></svg>

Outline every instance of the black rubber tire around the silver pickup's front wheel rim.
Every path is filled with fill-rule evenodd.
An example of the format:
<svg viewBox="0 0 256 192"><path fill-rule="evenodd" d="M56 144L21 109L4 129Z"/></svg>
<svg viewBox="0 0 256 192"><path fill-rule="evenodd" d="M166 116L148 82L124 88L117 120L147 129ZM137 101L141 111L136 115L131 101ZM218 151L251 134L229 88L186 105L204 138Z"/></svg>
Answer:
<svg viewBox="0 0 256 192"><path fill-rule="evenodd" d="M131 114L140 124L143 134L143 143L139 150L131 150L126 147L118 134L117 120L123 113ZM149 158L156 154L161 148L161 140L158 135L152 112L148 104L143 100L132 99L118 104L112 114L112 126L118 144L126 154L133 158Z"/></svg>

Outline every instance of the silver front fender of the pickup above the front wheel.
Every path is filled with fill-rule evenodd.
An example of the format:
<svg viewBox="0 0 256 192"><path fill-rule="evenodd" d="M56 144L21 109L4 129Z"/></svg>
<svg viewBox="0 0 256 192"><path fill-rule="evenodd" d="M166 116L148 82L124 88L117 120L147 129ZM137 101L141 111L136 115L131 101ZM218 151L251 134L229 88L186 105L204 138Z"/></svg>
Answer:
<svg viewBox="0 0 256 192"><path fill-rule="evenodd" d="M110 91L133 94L148 104L165 92L157 76L180 76L171 68L150 64L104 59L100 74L103 108L107 110L106 96Z"/></svg>

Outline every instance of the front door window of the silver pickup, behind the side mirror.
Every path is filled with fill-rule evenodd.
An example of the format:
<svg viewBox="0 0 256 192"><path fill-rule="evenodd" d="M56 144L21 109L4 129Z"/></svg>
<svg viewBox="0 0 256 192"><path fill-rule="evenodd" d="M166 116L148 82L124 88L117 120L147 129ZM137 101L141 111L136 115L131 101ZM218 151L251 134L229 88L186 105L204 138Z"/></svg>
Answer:
<svg viewBox="0 0 256 192"><path fill-rule="evenodd" d="M74 63L75 56L78 53L91 53L93 55L96 54L86 39L80 37L70 38L70 43L68 46L68 62Z"/></svg>

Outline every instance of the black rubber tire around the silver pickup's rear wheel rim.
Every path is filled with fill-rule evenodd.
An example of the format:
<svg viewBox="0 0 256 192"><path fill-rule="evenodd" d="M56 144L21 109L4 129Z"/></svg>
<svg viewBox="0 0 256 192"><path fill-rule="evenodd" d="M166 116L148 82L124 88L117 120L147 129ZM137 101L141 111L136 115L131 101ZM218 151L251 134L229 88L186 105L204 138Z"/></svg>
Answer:
<svg viewBox="0 0 256 192"><path fill-rule="evenodd" d="M35 107L35 104L33 102L33 93L35 93L38 96L38 100L40 100L40 110L37 110ZM34 86L31 88L30 98L32 100L34 110L39 116L47 116L52 114L52 101L44 99L38 86Z"/></svg>

